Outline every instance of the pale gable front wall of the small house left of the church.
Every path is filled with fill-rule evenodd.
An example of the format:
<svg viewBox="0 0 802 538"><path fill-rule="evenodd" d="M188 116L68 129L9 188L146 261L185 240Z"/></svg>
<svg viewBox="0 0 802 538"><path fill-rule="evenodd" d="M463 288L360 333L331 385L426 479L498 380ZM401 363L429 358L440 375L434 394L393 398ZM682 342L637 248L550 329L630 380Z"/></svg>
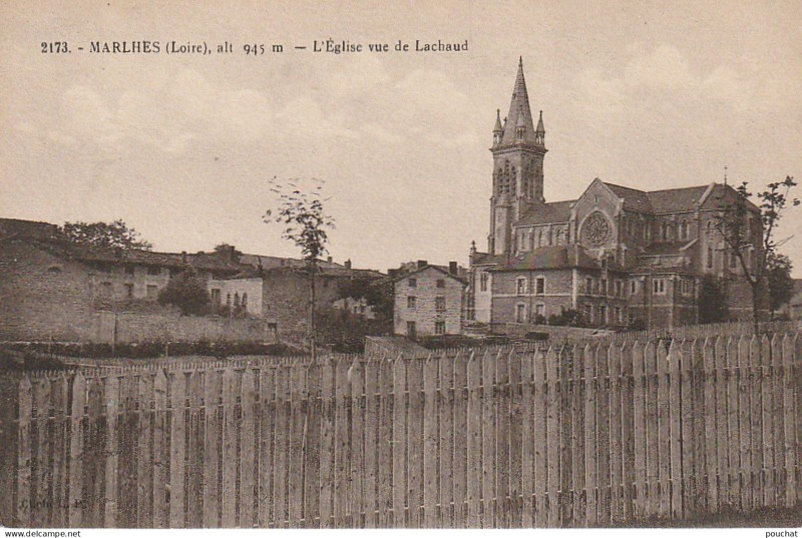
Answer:
<svg viewBox="0 0 802 538"><path fill-rule="evenodd" d="M409 285L409 278L415 279L415 286ZM444 288L437 287L438 280L444 281ZM393 309L395 333L407 334L407 322L415 322L415 332L419 336L435 334L436 322L445 322L446 334L460 334L463 289L460 281L436 269L427 269L396 281ZM415 308L409 308L410 296L415 297ZM438 312L435 308L435 297L445 298L444 312Z"/></svg>

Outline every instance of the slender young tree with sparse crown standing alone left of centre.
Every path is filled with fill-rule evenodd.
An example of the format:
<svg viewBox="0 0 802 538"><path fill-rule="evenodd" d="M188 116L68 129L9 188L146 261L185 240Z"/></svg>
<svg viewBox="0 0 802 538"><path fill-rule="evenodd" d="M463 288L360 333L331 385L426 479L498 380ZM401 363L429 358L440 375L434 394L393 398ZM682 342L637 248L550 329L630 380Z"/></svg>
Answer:
<svg viewBox="0 0 802 538"><path fill-rule="evenodd" d="M315 277L318 273L320 257L328 252L328 230L334 228L334 219L326 212L322 195L322 183L302 192L293 181L286 184L278 182L276 177L268 182L270 192L277 196L277 208L269 208L263 220L275 222L283 226L282 238L292 241L301 250L309 275L309 340L312 362L315 360Z"/></svg>

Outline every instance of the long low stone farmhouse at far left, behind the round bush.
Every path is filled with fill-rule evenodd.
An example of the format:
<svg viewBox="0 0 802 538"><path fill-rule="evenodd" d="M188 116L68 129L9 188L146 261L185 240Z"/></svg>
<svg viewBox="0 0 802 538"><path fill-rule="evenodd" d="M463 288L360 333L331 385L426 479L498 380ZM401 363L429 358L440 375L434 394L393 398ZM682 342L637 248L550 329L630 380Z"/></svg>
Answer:
<svg viewBox="0 0 802 538"><path fill-rule="evenodd" d="M216 311L261 313L261 278L244 274L233 250L157 253L81 245L47 223L0 219L0 337L74 338L99 312L159 313L171 277L194 271Z"/></svg>

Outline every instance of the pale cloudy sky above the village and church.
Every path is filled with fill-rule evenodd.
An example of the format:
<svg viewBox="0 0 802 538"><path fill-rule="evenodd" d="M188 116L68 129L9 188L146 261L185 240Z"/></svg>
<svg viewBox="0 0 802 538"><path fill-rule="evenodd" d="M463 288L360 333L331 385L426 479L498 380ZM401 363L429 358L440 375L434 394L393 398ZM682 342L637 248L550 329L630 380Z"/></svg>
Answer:
<svg viewBox="0 0 802 538"><path fill-rule="evenodd" d="M488 148L519 57L543 111L548 201L595 177L802 180L799 2L223 4L2 2L0 216L121 218L158 250L298 257L262 220L268 181L322 181L335 261L467 264L471 241L487 244ZM312 50L326 39L363 51ZM468 51L414 51L438 39ZM89 51L143 40L160 53ZM42 52L65 41L70 53ZM172 41L213 53L165 54ZM777 235L796 277L800 225L802 208Z"/></svg>

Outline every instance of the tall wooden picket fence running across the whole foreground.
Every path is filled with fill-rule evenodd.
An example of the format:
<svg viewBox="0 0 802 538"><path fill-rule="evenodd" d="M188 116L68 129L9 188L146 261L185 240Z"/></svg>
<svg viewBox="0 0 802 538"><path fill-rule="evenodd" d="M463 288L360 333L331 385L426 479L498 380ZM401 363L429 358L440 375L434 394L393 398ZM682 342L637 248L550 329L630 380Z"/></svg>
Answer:
<svg viewBox="0 0 802 538"><path fill-rule="evenodd" d="M0 382L21 527L585 527L799 503L802 339Z"/></svg>

